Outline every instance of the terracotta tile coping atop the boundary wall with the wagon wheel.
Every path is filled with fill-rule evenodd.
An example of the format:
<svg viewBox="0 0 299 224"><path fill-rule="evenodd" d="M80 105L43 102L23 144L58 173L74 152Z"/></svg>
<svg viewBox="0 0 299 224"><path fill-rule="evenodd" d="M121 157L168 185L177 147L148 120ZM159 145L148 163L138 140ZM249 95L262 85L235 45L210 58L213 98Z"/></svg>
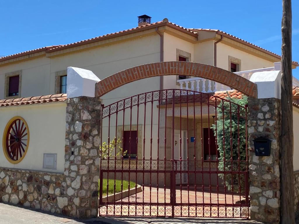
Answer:
<svg viewBox="0 0 299 224"><path fill-rule="evenodd" d="M37 104L37 103L48 103L48 102L61 102L61 101L65 101L66 99L67 99L67 96L65 93L55 94L55 95L47 95L47 96L23 97L23 98L17 98L17 99L1 99L0 107Z"/></svg>

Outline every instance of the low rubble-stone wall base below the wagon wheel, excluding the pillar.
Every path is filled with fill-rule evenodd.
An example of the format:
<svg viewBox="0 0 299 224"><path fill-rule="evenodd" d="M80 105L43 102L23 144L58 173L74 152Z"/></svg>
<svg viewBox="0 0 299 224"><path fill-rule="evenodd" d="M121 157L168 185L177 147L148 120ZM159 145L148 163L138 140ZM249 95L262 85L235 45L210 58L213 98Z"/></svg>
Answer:
<svg viewBox="0 0 299 224"><path fill-rule="evenodd" d="M65 214L66 189L60 173L0 168L0 202Z"/></svg>

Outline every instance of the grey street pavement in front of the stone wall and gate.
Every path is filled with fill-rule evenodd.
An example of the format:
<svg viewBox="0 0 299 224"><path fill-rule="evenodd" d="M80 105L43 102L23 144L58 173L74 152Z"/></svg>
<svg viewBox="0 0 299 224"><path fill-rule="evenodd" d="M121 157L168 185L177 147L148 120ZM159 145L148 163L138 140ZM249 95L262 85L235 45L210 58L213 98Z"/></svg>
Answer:
<svg viewBox="0 0 299 224"><path fill-rule="evenodd" d="M0 203L0 224L257 224L251 220L238 219L190 219L190 218L135 218L99 217L89 220L72 220L68 217L16 207Z"/></svg>

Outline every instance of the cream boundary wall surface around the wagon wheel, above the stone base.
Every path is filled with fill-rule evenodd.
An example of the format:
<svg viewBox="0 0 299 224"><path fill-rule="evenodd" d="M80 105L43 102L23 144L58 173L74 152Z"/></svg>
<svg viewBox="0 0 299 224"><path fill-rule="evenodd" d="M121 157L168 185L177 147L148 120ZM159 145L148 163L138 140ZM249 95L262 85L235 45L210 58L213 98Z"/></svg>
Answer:
<svg viewBox="0 0 299 224"><path fill-rule="evenodd" d="M8 106L0 108L0 166L39 171L63 172L65 148L64 102ZM27 122L30 139L28 151L21 162L11 164L4 156L2 136L7 122L14 116L21 116ZM43 169L43 154L57 154L57 169Z"/></svg>

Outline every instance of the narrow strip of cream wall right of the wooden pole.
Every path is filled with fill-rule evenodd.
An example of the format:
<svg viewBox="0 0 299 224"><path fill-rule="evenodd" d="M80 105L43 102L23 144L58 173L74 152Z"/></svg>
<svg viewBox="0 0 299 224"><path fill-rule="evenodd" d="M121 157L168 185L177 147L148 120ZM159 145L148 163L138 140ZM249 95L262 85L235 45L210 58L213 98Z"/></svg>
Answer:
<svg viewBox="0 0 299 224"><path fill-rule="evenodd" d="M293 166L294 171L299 170L299 109L293 107L293 133L294 133L294 155L293 155Z"/></svg>

